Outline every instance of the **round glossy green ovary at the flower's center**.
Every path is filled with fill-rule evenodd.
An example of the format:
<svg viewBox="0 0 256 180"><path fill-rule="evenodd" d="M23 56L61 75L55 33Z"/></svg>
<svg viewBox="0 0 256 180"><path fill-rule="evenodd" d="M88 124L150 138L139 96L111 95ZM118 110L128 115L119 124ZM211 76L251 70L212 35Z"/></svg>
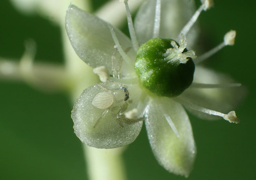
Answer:
<svg viewBox="0 0 256 180"><path fill-rule="evenodd" d="M167 49L172 39L150 39L137 51L135 71L142 85L158 96L175 97L187 89L192 81L195 64L187 57L186 63L169 59ZM182 53L187 52L185 48Z"/></svg>

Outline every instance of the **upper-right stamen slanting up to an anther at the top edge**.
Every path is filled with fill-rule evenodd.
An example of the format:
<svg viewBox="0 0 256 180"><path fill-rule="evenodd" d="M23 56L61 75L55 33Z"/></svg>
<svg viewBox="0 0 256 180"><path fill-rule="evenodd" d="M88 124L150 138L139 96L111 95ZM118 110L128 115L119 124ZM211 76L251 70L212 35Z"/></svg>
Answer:
<svg viewBox="0 0 256 180"><path fill-rule="evenodd" d="M180 34L178 35L177 39L180 38L181 34L187 35L189 32L190 28L194 25L196 22L198 16L200 13L204 10L206 11L207 9L211 8L213 6L213 0L201 0L202 5L196 10L194 15L190 18L188 23L183 27L181 30Z"/></svg>

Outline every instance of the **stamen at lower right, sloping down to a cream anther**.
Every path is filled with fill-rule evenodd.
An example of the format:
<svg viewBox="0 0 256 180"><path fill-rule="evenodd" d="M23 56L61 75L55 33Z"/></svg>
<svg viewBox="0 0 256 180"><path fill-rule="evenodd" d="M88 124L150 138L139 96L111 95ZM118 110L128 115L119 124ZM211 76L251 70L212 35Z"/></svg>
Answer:
<svg viewBox="0 0 256 180"><path fill-rule="evenodd" d="M180 97L176 97L176 98L173 98L175 101L181 103L182 105L184 106L187 106L188 108L191 108L193 110L196 110L196 111L199 111L199 112L203 112L203 113L206 113L208 115L214 115L214 116L220 116L220 117L223 117L223 119L227 120L228 122L230 123L240 123L240 119L238 119L236 117L236 113L235 111L230 111L227 115L224 114L224 113L221 113L221 112L218 112L218 111L214 111L214 110L210 110L210 109L207 109L207 108L203 108L201 106L198 106L196 104L193 104L189 101L186 101L185 99L183 98L180 98Z"/></svg>

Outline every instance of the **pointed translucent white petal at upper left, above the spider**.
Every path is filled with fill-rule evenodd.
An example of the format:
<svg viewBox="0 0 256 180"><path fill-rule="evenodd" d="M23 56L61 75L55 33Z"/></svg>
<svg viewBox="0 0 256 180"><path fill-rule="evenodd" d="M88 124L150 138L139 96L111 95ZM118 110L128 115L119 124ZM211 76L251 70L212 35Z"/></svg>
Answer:
<svg viewBox="0 0 256 180"><path fill-rule="evenodd" d="M127 64L122 60L110 33L108 24L96 16L82 11L74 5L70 5L66 14L66 30L69 40L76 54L89 66L96 68L105 66L112 74L112 60L116 70L121 67L125 76L134 71L136 54L132 48L130 39L120 30L114 28L114 32L132 62ZM122 60L122 65L119 62Z"/></svg>

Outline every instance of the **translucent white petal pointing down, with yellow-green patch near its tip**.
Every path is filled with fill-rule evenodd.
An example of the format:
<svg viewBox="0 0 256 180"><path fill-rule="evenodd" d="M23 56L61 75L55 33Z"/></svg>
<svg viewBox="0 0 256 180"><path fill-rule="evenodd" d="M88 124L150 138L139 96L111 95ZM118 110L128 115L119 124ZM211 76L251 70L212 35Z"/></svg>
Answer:
<svg viewBox="0 0 256 180"><path fill-rule="evenodd" d="M164 107L169 110L169 116L180 137L177 137L160 111L154 99L147 108L145 121L149 142L153 153L164 168L174 174L188 176L196 155L193 132L183 107L169 98L164 98Z"/></svg>

